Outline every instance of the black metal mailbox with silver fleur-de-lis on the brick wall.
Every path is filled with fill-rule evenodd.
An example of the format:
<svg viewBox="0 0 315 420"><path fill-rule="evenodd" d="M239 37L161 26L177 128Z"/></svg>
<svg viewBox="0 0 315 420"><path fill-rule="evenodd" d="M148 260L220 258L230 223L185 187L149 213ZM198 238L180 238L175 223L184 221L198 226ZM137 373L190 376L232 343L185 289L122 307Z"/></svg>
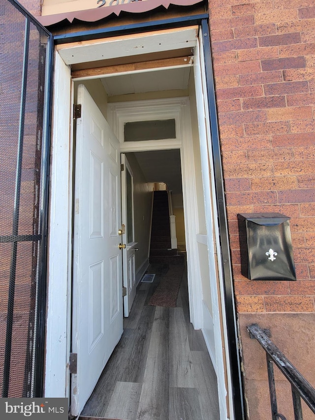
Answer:
<svg viewBox="0 0 315 420"><path fill-rule="evenodd" d="M242 274L250 280L296 280L289 217L238 214Z"/></svg>

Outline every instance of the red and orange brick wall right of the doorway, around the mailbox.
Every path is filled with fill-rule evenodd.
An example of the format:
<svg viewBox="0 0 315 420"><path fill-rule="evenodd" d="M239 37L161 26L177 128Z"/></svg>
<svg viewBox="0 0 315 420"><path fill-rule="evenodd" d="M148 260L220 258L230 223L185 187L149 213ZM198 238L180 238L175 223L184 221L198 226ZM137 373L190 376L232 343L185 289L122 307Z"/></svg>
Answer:
<svg viewBox="0 0 315 420"><path fill-rule="evenodd" d="M315 311L315 6L305 7L310 3L210 2L239 312ZM253 283L241 275L237 213L274 211L291 217L297 282Z"/></svg>

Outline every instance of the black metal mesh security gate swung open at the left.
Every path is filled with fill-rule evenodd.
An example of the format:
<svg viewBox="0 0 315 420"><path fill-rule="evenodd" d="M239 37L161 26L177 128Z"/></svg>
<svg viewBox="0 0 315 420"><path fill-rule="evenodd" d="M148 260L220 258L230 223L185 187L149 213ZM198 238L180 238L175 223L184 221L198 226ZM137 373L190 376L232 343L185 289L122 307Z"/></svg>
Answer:
<svg viewBox="0 0 315 420"><path fill-rule="evenodd" d="M0 391L42 394L52 39L0 4Z"/></svg>

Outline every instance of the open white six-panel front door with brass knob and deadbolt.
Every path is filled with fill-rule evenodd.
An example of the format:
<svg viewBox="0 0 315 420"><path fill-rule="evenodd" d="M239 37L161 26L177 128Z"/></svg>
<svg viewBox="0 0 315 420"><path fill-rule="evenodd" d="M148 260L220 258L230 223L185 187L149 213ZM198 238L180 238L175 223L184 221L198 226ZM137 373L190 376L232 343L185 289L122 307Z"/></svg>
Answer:
<svg viewBox="0 0 315 420"><path fill-rule="evenodd" d="M78 416L123 332L119 141L87 89L78 87L71 414Z"/></svg>

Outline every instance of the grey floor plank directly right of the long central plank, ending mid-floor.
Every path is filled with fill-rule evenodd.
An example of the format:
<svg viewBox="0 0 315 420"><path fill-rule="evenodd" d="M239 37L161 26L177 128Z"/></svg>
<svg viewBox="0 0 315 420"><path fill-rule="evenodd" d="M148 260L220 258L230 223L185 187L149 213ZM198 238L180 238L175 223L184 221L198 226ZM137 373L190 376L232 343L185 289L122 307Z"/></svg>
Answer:
<svg viewBox="0 0 315 420"><path fill-rule="evenodd" d="M170 308L170 387L193 388L194 373L183 308Z"/></svg>

